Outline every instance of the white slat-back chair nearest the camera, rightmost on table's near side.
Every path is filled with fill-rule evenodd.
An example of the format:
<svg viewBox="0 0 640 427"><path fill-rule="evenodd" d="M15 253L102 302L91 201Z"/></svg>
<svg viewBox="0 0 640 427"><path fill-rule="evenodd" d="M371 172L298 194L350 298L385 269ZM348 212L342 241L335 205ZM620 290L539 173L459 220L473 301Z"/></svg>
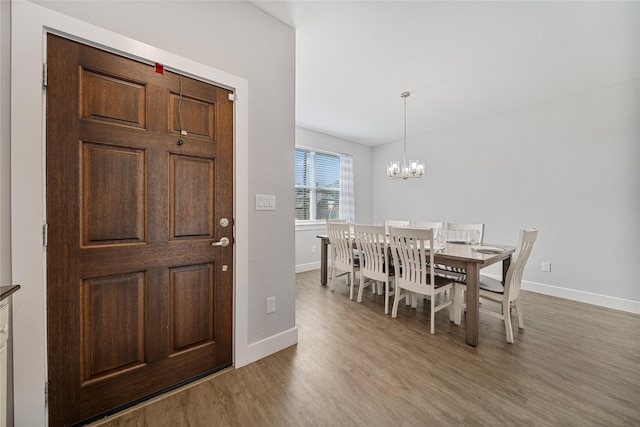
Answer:
<svg viewBox="0 0 640 427"><path fill-rule="evenodd" d="M398 304L403 298L412 298L414 294L428 296L431 302L431 333L435 334L435 315L449 307L449 317L453 320L453 295L448 297L445 291L455 293L453 282L434 274L433 230L419 228L389 229L391 249L396 266L395 295L391 317L398 316ZM444 302L436 303L441 295Z"/></svg>

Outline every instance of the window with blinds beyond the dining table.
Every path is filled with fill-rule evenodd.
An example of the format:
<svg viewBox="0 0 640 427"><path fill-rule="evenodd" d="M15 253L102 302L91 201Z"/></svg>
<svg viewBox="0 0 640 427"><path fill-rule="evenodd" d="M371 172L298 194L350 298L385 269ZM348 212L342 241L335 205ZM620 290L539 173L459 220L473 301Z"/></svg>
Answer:
<svg viewBox="0 0 640 427"><path fill-rule="evenodd" d="M345 185L353 178L352 157L296 148L295 210L297 221L347 219L353 221L353 191L345 196ZM345 168L345 165L349 165ZM342 184L342 185L341 185ZM351 184L352 187L352 184Z"/></svg>

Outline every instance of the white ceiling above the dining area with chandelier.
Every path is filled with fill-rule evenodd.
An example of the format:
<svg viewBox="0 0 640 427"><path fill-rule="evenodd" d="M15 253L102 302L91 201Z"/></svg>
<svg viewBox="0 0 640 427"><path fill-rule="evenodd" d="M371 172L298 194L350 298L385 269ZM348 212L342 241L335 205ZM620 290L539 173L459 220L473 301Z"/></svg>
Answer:
<svg viewBox="0 0 640 427"><path fill-rule="evenodd" d="M253 1L296 29L296 124L371 146L638 78L639 2Z"/></svg>

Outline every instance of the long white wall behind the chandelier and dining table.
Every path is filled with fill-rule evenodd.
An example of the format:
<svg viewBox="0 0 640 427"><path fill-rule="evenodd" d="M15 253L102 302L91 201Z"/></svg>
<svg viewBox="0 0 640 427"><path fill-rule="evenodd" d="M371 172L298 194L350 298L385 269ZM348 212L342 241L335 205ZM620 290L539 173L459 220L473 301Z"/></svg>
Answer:
<svg viewBox="0 0 640 427"><path fill-rule="evenodd" d="M636 79L412 138L421 180L387 179L402 145L377 147L374 220L484 222L511 244L536 227L525 288L638 313L639 94Z"/></svg>

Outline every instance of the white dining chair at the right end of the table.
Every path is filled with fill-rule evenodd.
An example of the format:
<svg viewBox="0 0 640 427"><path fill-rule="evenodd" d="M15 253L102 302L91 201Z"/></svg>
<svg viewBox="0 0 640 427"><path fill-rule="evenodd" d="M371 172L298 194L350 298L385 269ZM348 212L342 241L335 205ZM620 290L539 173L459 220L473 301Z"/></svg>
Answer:
<svg viewBox="0 0 640 427"><path fill-rule="evenodd" d="M507 275L504 277L504 285L500 280L480 275L479 279L479 293L478 296L482 298L483 302L490 301L501 305L501 311L489 310L483 306L480 307L480 313L485 313L498 319L504 320L504 328L506 331L507 342L513 343L513 330L511 327L511 306L513 305L516 310L516 316L518 317L518 328L524 329L524 318L522 315L522 305L520 304L520 287L522 285L522 273L524 267L527 264L533 244L538 238L538 230L520 230L518 236L518 245L516 247L516 253L514 255L515 261L512 261L507 270ZM455 303L454 322L459 325L462 320L462 310L464 306L464 293L467 289L464 283L456 283L455 285Z"/></svg>

